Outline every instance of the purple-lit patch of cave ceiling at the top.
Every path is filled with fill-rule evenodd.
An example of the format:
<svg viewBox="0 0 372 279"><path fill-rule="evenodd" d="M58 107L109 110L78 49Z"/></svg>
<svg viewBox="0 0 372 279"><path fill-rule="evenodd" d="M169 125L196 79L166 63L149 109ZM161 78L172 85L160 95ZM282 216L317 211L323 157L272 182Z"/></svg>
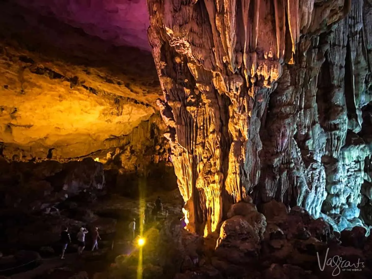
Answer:
<svg viewBox="0 0 372 279"><path fill-rule="evenodd" d="M17 0L114 45L150 50L146 0Z"/></svg>

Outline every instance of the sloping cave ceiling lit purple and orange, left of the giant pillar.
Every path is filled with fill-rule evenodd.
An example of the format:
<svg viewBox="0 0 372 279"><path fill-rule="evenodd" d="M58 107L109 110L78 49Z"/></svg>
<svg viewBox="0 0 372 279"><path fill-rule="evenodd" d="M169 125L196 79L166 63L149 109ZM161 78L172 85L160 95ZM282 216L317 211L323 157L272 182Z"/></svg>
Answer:
<svg viewBox="0 0 372 279"><path fill-rule="evenodd" d="M1 1L0 142L8 160L121 145L157 111L145 1Z"/></svg>

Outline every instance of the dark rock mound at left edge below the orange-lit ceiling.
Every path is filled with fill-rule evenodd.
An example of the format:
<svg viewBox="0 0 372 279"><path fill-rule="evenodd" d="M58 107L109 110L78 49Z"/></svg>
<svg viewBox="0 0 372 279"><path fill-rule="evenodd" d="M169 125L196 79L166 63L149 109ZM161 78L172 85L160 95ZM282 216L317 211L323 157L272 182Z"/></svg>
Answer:
<svg viewBox="0 0 372 279"><path fill-rule="evenodd" d="M0 209L45 211L69 197L105 186L103 165L86 158L66 164L0 161Z"/></svg>

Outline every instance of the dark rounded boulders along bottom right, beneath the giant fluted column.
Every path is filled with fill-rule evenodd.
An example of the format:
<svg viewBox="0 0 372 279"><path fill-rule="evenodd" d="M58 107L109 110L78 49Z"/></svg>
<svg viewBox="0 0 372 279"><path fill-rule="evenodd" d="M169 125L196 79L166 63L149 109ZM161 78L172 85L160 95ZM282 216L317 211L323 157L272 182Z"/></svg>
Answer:
<svg viewBox="0 0 372 279"><path fill-rule="evenodd" d="M264 203L260 211L266 217L249 201L237 203L219 235L206 238L186 232L177 219L167 221L163 230L152 232L151 244L144 247L144 278L325 279L337 275L364 279L372 275L372 237L365 237L363 227L338 234L303 208L296 206L288 212L276 201ZM339 262L331 264L331 260ZM135 278L137 263L137 252L121 256L97 278L124 274ZM149 269L153 273L145 272Z"/></svg>

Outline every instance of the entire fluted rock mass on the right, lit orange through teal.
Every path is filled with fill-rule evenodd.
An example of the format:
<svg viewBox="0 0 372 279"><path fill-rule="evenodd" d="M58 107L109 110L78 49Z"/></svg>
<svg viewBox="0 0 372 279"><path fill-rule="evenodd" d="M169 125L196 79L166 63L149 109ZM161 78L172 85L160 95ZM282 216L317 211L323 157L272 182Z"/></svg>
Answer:
<svg viewBox="0 0 372 279"><path fill-rule="evenodd" d="M247 195L336 230L370 218L371 1L147 2L190 230Z"/></svg>

